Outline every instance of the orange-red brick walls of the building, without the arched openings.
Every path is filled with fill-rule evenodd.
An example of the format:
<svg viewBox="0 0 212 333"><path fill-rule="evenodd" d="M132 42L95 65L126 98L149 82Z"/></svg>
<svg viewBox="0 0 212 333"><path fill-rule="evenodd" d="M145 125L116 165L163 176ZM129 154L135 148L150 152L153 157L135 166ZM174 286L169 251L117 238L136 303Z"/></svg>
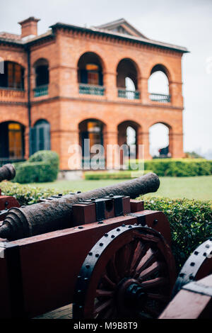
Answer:
<svg viewBox="0 0 212 333"><path fill-rule="evenodd" d="M35 21L28 32L30 35L32 29L33 34L37 34ZM26 37L25 31L23 33ZM120 124L132 124L136 129L136 143L144 145L146 159L151 158L148 151L149 128L155 123L163 123L170 131L172 157L183 157L181 61L187 50L161 44L148 42L148 39L143 41L140 37L125 37L105 30L61 23L52 26L52 30L44 35L24 41L1 37L0 34L1 58L4 62L16 62L25 69L23 90L0 87L0 123L13 121L24 126L25 158L28 158L29 112L32 128L37 120L47 120L51 149L59 153L61 170L69 169L69 147L79 143L79 124L89 119L100 120L104 125L104 145L123 141ZM102 86L105 88L102 95L79 93L78 61L86 52L97 55L102 65ZM128 99L117 94L117 67L123 59L132 62L136 68L139 98ZM35 64L40 60L47 60L49 83L45 94L35 96ZM169 80L171 98L165 103L151 101L148 94L148 78L158 64L165 68ZM74 168L80 169L81 166Z"/></svg>

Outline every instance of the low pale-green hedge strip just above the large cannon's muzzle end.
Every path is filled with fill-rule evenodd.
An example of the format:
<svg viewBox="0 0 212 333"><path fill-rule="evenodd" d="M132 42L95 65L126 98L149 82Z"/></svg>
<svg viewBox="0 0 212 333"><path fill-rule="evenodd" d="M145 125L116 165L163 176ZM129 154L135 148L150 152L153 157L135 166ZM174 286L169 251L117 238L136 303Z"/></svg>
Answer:
<svg viewBox="0 0 212 333"><path fill-rule="evenodd" d="M145 171L86 171L84 173L86 180L98 180L98 179L131 179L143 176L143 174L148 174L152 172L151 170Z"/></svg>

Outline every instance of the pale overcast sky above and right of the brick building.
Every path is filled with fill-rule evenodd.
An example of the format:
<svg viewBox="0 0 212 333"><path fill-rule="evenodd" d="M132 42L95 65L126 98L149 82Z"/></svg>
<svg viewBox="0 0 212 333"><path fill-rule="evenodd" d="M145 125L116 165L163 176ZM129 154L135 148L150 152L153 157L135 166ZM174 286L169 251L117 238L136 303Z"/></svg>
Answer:
<svg viewBox="0 0 212 333"><path fill-rule="evenodd" d="M96 26L125 18L148 38L185 46L182 57L184 151L212 152L212 0L0 0L0 31L40 18L38 33L56 22Z"/></svg>

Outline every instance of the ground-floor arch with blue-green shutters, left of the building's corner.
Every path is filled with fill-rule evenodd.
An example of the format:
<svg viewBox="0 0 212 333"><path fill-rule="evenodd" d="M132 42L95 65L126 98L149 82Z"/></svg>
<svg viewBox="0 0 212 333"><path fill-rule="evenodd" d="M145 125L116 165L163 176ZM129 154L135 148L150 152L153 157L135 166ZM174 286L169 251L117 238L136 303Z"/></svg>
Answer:
<svg viewBox="0 0 212 333"><path fill-rule="evenodd" d="M34 154L39 150L50 150L50 124L45 119L37 120L30 130L30 153Z"/></svg>

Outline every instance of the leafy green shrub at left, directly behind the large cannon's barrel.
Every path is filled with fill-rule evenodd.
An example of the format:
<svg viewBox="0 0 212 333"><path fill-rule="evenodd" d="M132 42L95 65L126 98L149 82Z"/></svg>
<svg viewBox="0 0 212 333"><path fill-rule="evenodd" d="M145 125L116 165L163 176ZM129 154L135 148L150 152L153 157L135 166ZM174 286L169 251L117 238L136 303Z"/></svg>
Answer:
<svg viewBox="0 0 212 333"><path fill-rule="evenodd" d="M15 197L20 205L32 205L33 203L38 203L40 198L47 198L53 194L61 193L50 188L20 185L11 181L2 181L0 187L3 195ZM69 191L64 191L63 193L69 193Z"/></svg>

